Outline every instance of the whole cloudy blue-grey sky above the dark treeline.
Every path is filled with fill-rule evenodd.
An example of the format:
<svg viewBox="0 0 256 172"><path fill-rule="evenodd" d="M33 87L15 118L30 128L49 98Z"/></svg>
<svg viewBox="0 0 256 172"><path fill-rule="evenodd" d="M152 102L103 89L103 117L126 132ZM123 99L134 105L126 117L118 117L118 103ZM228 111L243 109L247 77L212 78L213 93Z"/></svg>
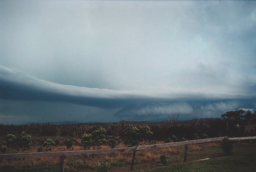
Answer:
<svg viewBox="0 0 256 172"><path fill-rule="evenodd" d="M0 1L0 123L256 109L255 1Z"/></svg>

